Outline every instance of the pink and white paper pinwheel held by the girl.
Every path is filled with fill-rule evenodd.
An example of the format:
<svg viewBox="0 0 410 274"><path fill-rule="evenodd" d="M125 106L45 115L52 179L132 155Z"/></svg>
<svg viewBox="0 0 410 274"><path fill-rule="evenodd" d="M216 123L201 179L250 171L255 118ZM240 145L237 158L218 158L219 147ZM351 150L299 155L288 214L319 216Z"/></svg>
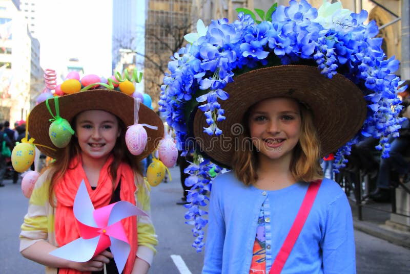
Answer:
<svg viewBox="0 0 410 274"><path fill-rule="evenodd" d="M110 247L118 273L121 273L131 247L120 220L134 215L148 215L127 201L118 201L95 210L84 180L75 195L73 211L79 224L80 238L50 254L74 262L87 262Z"/></svg>

